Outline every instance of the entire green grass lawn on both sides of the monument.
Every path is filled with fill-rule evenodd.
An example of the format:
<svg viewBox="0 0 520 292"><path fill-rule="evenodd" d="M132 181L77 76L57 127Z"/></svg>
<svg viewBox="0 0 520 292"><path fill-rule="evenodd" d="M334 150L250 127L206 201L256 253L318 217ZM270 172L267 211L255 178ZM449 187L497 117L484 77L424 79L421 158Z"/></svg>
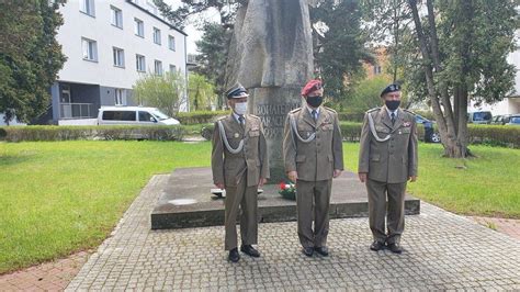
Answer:
<svg viewBox="0 0 520 292"><path fill-rule="evenodd" d="M359 145L343 147L355 171ZM440 145L419 149L416 196L520 218L520 150L473 146L479 158L453 160ZM208 142L0 143L0 273L97 247L152 175L208 166L210 154Z"/></svg>

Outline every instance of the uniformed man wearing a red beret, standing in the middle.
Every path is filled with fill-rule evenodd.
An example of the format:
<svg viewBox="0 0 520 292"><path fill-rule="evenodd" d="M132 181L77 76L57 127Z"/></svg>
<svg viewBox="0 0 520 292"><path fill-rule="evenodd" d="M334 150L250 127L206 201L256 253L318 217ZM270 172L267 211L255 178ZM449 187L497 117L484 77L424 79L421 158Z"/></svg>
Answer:
<svg viewBox="0 0 520 292"><path fill-rule="evenodd" d="M321 81L302 90L306 104L285 120L283 157L287 177L296 183L298 237L302 252L328 256L329 205L332 177L343 170L338 114L321 106ZM313 214L314 210L314 214ZM314 217L314 231L313 231Z"/></svg>

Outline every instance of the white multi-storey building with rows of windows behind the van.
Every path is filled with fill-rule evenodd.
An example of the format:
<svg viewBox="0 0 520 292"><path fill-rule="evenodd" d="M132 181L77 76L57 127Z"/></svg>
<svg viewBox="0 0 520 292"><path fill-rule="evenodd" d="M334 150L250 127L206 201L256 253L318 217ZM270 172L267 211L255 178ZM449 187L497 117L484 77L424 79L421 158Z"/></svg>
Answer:
<svg viewBox="0 0 520 292"><path fill-rule="evenodd" d="M147 72L186 75L186 34L155 14L150 0L71 0L60 12L56 38L67 61L43 123L97 117L102 105L137 105L132 87Z"/></svg>

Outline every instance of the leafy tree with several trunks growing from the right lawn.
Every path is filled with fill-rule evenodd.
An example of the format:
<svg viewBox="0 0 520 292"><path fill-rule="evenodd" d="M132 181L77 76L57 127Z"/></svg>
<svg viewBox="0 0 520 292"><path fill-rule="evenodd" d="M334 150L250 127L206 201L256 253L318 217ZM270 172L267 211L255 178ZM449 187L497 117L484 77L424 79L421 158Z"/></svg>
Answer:
<svg viewBox="0 0 520 292"><path fill-rule="evenodd" d="M468 156L470 99L498 101L513 87L507 56L515 49L515 1L427 0L423 20L417 0L408 5L444 154Z"/></svg>

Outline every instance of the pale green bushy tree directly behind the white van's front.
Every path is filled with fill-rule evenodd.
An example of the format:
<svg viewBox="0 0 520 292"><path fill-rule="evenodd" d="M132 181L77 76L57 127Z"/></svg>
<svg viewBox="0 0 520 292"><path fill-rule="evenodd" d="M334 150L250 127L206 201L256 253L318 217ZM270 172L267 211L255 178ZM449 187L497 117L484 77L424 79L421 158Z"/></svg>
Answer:
<svg viewBox="0 0 520 292"><path fill-rule="evenodd" d="M136 81L133 90L139 104L158 108L169 116L176 116L186 102L184 75L180 72L147 74Z"/></svg>

